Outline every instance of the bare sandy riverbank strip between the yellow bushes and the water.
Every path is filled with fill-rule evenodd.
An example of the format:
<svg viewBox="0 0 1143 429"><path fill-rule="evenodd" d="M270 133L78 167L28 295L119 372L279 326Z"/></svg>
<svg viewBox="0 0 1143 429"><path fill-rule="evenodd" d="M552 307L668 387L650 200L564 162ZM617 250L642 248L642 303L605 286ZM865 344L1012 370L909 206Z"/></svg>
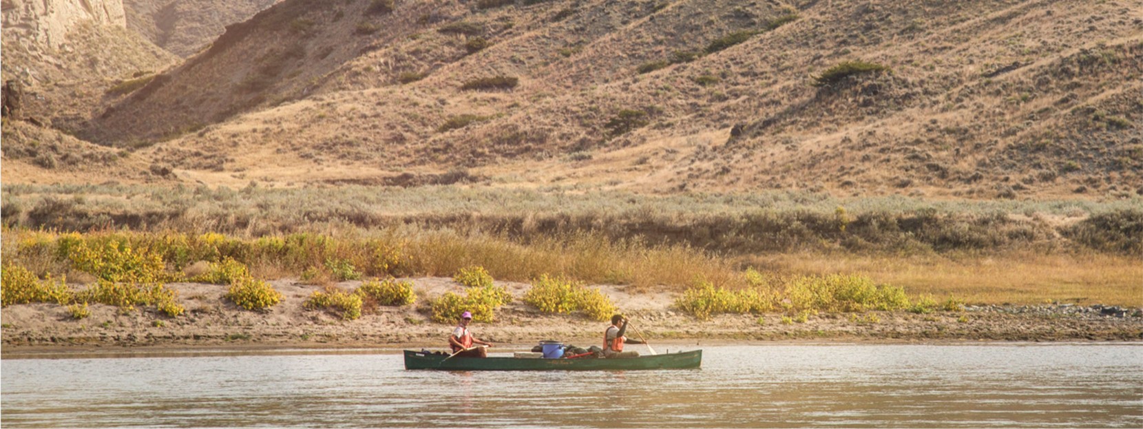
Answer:
<svg viewBox="0 0 1143 429"><path fill-rule="evenodd" d="M187 312L168 318L153 309L123 312L110 305L90 307L75 320L56 304L10 305L0 311L5 356L43 352L113 350L314 349L314 348L445 348L451 325L433 323L423 309L430 297L462 293L449 278L415 278L417 304L382 307L357 320L341 320L305 310L302 302L321 287L296 280L272 281L283 301L269 312L243 311L223 300L225 286L170 284ZM351 289L359 283L338 286ZM522 296L527 284L497 283ZM722 315L696 320L671 308L668 293L629 294L622 286L599 286L632 320L652 345L693 348L698 344L773 341L1143 341L1143 313L1137 309L1103 311L1073 305L969 307L966 311L823 313L806 323L783 324L782 315ZM870 320L870 315L876 320ZM560 340L580 347L601 342L607 323L578 315L543 315L512 302L497 321L475 323L473 333L495 343L494 350L530 348L539 340ZM633 332L632 332L633 334ZM636 336L629 334L629 336Z"/></svg>

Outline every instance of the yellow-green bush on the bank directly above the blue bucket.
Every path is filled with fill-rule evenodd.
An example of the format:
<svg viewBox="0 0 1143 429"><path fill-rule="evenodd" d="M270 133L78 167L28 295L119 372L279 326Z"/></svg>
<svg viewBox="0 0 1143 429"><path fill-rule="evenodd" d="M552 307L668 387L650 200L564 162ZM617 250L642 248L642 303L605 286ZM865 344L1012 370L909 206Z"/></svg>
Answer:
<svg viewBox="0 0 1143 429"><path fill-rule="evenodd" d="M616 311L615 303L599 288L586 288L580 281L546 273L531 284L531 288L523 295L523 302L543 312L584 311L589 318L600 321L607 320Z"/></svg>

